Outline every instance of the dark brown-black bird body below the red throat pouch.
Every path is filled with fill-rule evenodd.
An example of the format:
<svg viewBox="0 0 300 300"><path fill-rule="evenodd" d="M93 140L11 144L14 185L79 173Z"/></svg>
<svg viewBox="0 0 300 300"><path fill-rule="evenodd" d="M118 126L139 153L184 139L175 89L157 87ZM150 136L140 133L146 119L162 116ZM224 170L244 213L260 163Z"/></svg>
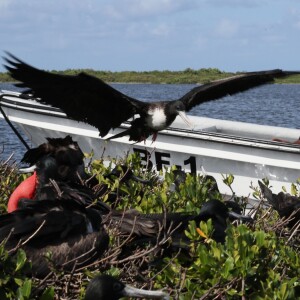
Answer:
<svg viewBox="0 0 300 300"><path fill-rule="evenodd" d="M109 238L101 214L77 199L23 200L23 207L0 215L0 240L7 250L21 247L32 274L46 276L55 267L71 271L99 258Z"/></svg>

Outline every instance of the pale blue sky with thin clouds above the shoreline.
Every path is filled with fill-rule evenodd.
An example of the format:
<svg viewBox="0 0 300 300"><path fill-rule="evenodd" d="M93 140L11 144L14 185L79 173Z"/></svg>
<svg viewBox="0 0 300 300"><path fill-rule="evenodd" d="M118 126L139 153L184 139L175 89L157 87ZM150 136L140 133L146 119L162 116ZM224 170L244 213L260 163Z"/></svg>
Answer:
<svg viewBox="0 0 300 300"><path fill-rule="evenodd" d="M46 70L300 70L300 0L0 0L5 52Z"/></svg>

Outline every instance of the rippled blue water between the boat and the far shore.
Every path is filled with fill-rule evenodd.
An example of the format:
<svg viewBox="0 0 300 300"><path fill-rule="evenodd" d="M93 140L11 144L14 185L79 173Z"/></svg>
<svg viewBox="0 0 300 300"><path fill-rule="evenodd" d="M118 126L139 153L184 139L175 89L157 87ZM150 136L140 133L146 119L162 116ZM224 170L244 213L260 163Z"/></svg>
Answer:
<svg viewBox="0 0 300 300"><path fill-rule="evenodd" d="M192 84L113 84L121 92L140 100L177 99L192 89ZM0 89L17 90L12 84L0 83ZM263 125L300 129L300 85L264 85L222 100L204 103L189 112L206 116ZM300 130L299 130L300 136ZM0 159L14 153L19 161L25 147L3 119L0 119Z"/></svg>

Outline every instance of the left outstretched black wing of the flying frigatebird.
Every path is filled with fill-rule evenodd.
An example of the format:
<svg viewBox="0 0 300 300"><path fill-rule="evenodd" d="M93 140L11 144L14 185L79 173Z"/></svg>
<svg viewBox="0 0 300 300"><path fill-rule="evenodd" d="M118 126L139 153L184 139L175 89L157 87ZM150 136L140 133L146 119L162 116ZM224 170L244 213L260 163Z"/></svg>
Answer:
<svg viewBox="0 0 300 300"><path fill-rule="evenodd" d="M59 75L36 69L8 54L5 68L34 97L63 110L68 117L97 127L101 136L138 113L140 101L115 90L102 80L80 73Z"/></svg>

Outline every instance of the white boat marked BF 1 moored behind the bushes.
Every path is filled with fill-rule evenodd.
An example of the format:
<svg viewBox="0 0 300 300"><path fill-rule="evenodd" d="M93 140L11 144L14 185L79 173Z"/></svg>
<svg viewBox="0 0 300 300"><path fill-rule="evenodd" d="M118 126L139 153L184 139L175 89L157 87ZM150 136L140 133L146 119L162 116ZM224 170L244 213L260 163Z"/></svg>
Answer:
<svg viewBox="0 0 300 300"><path fill-rule="evenodd" d="M223 183L223 175L233 174L232 188L238 196L251 196L251 183L268 178L272 191L287 191L300 177L300 145L274 142L281 138L294 141L297 129L256 125L243 122L190 116L193 129L177 118L167 130L158 134L152 143L132 143L128 137L106 141L96 128L69 119L60 109L43 105L22 94L0 91L0 106L34 145L46 137L71 135L84 152L94 151L95 158L122 158L130 152L140 153L143 163L163 171L177 165L187 172L206 172L214 176L223 194L231 194ZM1 117L1 114L0 114ZM3 117L3 116L2 116ZM128 128L124 123L105 138Z"/></svg>

